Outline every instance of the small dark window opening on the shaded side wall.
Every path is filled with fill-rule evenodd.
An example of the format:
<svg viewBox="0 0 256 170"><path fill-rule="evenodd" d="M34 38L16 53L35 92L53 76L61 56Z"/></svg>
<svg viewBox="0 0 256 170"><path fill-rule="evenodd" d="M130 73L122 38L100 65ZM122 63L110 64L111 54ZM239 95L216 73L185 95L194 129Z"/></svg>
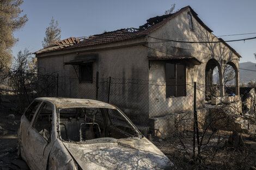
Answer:
<svg viewBox="0 0 256 170"><path fill-rule="evenodd" d="M79 66L79 81L93 83L93 62Z"/></svg>

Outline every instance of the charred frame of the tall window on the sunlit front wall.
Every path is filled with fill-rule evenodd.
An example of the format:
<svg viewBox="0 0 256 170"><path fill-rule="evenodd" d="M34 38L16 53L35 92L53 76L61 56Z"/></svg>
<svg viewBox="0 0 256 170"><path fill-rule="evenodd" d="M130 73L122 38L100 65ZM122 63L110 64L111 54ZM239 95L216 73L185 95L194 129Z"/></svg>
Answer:
<svg viewBox="0 0 256 170"><path fill-rule="evenodd" d="M168 74L168 68L167 66L169 64L174 65L174 81L168 81L168 77L170 77L170 74ZM183 69L183 83L180 85L178 84L178 76L177 76L177 65L182 65L184 67ZM182 97L187 95L187 73L186 73L186 64L183 62L166 62L165 64L165 72L166 72L166 98L172 98L172 97ZM168 76L169 75L169 76ZM174 84L172 84L174 83ZM173 88L175 86L175 88ZM180 91L180 87L183 88L182 91ZM179 92L179 93L178 93Z"/></svg>

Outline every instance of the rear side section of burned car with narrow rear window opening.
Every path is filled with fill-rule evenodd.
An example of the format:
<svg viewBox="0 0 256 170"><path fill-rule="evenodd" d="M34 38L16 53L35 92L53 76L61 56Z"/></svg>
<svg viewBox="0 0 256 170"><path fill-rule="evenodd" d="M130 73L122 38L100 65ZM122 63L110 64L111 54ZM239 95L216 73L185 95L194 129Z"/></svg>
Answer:
<svg viewBox="0 0 256 170"><path fill-rule="evenodd" d="M29 126L31 125L33 116L35 115L36 111L38 111L39 106L42 101L40 100L34 100L26 109L24 114L21 117L21 124L19 128L19 144L21 149L21 156L23 159L26 159L26 149L25 149L25 143L26 143L26 134Z"/></svg>

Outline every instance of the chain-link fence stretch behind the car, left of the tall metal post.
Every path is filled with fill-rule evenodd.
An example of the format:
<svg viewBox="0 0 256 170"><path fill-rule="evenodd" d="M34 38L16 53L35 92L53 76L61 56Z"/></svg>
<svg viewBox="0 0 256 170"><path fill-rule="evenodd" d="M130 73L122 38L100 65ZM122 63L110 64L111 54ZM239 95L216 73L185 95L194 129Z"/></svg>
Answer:
<svg viewBox="0 0 256 170"><path fill-rule="evenodd" d="M171 119L174 121L181 113L193 113L193 83L166 85L163 81L112 77L95 77L92 82L80 82L75 77L60 79L68 81L59 83L59 97L96 99L118 106L145 135L170 135ZM171 96L166 95L168 90ZM197 108L204 108L205 95L197 93Z"/></svg>

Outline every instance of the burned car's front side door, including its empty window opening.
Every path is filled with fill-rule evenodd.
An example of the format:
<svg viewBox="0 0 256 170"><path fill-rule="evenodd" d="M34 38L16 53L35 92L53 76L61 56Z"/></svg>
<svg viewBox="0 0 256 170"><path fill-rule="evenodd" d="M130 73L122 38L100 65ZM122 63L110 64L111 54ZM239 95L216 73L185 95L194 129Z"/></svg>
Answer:
<svg viewBox="0 0 256 170"><path fill-rule="evenodd" d="M26 148L28 149L27 162L31 169L46 169L48 155L56 138L52 135L53 113L55 106L44 102L34 115L31 126L27 130Z"/></svg>

